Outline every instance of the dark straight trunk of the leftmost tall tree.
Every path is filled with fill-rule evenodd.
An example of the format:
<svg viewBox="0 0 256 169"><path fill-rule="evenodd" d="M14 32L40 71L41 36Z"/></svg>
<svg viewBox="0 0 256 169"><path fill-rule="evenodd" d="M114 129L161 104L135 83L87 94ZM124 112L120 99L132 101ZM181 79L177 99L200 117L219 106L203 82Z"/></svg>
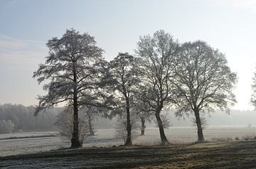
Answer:
<svg viewBox="0 0 256 169"><path fill-rule="evenodd" d="M71 148L79 148L82 147L82 143L79 140L79 134L78 134L78 88L76 85L77 82L77 76L75 70L73 70L74 74L74 88L73 88L73 108L74 108L74 114L73 114L73 134L71 138Z"/></svg>

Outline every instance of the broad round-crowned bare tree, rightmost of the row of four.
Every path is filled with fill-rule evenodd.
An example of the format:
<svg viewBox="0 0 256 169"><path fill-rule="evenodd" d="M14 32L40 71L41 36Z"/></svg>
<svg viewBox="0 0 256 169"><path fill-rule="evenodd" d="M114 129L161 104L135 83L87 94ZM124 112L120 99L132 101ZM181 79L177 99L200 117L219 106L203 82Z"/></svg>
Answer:
<svg viewBox="0 0 256 169"><path fill-rule="evenodd" d="M229 112L229 106L235 103L236 74L227 63L223 53L203 41L184 43L177 55L171 80L177 90L177 114L193 112L198 142L204 141L200 113L217 107Z"/></svg>

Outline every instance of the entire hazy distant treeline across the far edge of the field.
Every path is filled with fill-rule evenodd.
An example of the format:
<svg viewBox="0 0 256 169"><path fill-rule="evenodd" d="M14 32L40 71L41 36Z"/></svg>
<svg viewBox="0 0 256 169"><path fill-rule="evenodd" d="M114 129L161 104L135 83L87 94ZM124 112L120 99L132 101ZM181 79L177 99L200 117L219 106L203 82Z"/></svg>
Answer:
<svg viewBox="0 0 256 169"><path fill-rule="evenodd" d="M0 133L11 133L18 131L53 131L55 128L55 121L57 114L63 111L63 108L48 109L47 113L38 114L34 116L35 107L25 107L21 104L0 104ZM184 119L183 119L184 117ZM193 116L183 116L177 118L174 113L169 114L171 126L193 126ZM211 114L205 114L207 119L206 125L210 126L256 126L256 112L255 111L240 111L231 110L230 114L216 111ZM114 119L99 118L95 121L95 129L109 129L114 128ZM147 124L153 127L154 124Z"/></svg>

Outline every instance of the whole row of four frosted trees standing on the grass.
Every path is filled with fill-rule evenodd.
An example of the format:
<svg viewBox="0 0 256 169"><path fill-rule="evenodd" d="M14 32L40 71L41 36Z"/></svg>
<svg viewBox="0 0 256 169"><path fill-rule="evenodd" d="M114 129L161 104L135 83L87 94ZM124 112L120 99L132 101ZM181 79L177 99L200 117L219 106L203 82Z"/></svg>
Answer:
<svg viewBox="0 0 256 169"><path fill-rule="evenodd" d="M141 119L142 134L146 119L154 115L161 143L166 144L162 110L175 107L177 116L193 112L198 141L203 142L200 114L217 107L229 111L235 103L236 74L225 55L203 41L181 44L169 33L156 31L139 39L136 56L119 53L110 62L102 58L103 50L92 36L74 29L48 40L47 46L46 62L33 74L39 84L48 82L43 86L48 94L38 97L36 114L61 102L71 107L72 148L82 146L82 107L89 114L92 109L105 116L119 114L127 131L125 145L131 146L131 114Z"/></svg>

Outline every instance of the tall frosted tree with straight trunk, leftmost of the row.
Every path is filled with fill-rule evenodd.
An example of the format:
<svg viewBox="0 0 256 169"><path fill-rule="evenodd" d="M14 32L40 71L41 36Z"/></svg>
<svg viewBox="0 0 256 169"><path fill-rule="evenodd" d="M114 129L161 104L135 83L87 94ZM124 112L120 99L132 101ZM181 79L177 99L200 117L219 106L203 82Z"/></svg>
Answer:
<svg viewBox="0 0 256 169"><path fill-rule="evenodd" d="M38 97L35 114L61 102L73 104L71 147L78 148L82 146L78 137L78 107L85 103L85 98L95 98L91 89L97 88L103 50L96 46L94 37L74 29L67 30L62 38L48 40L46 45L49 55L33 77L39 84L49 82L43 85L48 94Z"/></svg>

